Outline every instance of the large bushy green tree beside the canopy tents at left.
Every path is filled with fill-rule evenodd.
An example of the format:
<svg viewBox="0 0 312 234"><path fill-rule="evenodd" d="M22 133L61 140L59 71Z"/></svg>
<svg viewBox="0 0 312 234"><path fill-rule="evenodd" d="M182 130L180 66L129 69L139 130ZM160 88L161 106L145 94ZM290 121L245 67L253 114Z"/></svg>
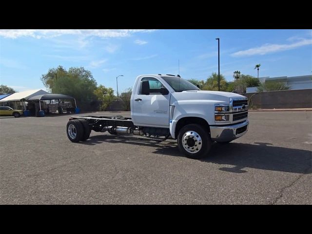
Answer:
<svg viewBox="0 0 312 234"><path fill-rule="evenodd" d="M97 81L83 67L71 67L68 70L62 66L50 68L40 79L51 93L72 96L80 107L89 105L96 98L94 91Z"/></svg>

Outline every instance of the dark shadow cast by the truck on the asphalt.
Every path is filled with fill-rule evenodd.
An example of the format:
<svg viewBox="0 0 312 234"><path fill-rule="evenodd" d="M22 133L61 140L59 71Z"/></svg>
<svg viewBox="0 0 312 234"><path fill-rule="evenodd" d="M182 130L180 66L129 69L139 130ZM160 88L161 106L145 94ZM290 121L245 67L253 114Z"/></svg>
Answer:
<svg viewBox="0 0 312 234"><path fill-rule="evenodd" d="M95 145L102 142L107 143L126 143L138 146L155 147L152 153L183 156L178 148L176 141L167 140L157 142L147 138L137 138L129 136L98 135L92 136L90 140L81 144ZM312 173L312 152L309 150L290 149L273 146L270 143L254 142L247 143L214 143L209 156L200 161L215 163L220 165L232 165L234 167L221 167L219 170L232 173L246 173L246 168L262 170L281 171L300 174ZM245 168L245 170L243 170Z"/></svg>

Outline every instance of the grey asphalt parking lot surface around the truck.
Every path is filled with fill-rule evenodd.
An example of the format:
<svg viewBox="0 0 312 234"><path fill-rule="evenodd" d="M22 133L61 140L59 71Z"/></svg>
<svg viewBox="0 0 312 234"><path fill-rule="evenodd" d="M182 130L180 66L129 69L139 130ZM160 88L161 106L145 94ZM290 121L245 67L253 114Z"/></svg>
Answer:
<svg viewBox="0 0 312 234"><path fill-rule="evenodd" d="M202 160L175 140L72 143L69 117L0 117L0 204L312 204L312 112L250 112L248 133Z"/></svg>

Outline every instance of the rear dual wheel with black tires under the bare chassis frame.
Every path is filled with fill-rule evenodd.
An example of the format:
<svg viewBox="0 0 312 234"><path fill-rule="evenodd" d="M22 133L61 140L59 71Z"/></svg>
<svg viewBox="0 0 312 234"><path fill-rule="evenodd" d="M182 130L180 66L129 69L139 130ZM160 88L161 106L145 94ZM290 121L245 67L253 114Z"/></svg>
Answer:
<svg viewBox="0 0 312 234"><path fill-rule="evenodd" d="M90 125L85 119L69 120L66 125L66 134L70 141L85 141L89 138L91 132Z"/></svg>

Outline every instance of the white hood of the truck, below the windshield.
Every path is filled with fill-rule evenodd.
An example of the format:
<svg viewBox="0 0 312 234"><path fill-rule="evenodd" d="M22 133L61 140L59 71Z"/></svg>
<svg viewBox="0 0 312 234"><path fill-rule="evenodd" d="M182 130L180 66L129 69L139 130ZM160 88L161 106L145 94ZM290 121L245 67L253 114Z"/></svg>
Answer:
<svg viewBox="0 0 312 234"><path fill-rule="evenodd" d="M215 102L229 103L230 98L246 98L245 96L221 92L221 91L206 91L206 90L188 90L183 92L172 93L171 103L180 100L210 100Z"/></svg>

